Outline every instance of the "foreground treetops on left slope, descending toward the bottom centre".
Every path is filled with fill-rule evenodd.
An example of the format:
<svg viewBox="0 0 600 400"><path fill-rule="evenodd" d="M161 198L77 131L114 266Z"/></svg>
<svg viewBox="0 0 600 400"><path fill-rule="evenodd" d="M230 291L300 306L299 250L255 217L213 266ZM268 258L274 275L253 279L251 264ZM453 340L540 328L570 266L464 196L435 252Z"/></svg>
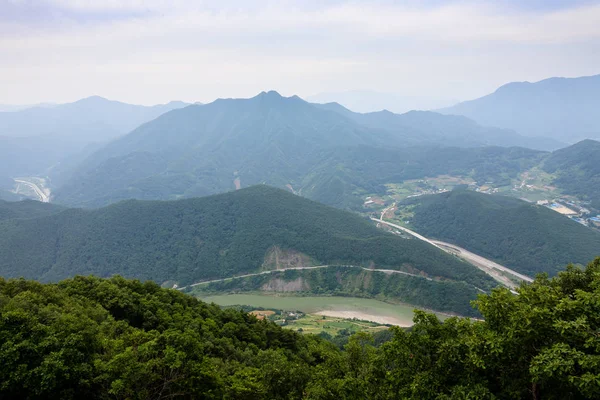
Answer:
<svg viewBox="0 0 600 400"><path fill-rule="evenodd" d="M332 346L154 283L0 279L0 397L299 398ZM321 354L323 353L323 354Z"/></svg>

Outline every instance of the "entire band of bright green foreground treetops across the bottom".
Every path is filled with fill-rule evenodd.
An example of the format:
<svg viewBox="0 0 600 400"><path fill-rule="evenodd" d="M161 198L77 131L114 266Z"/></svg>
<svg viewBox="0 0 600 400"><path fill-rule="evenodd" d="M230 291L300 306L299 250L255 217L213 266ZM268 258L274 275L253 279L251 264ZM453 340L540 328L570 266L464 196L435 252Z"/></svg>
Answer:
<svg viewBox="0 0 600 400"><path fill-rule="evenodd" d="M0 279L0 397L595 399L600 258L340 351L154 283Z"/></svg>

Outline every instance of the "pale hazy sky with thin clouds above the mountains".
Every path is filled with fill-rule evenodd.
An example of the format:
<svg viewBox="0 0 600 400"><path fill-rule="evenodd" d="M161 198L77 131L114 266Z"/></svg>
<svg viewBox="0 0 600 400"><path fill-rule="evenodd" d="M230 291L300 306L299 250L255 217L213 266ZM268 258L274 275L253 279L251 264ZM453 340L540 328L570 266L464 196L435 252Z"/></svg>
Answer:
<svg viewBox="0 0 600 400"><path fill-rule="evenodd" d="M600 73L600 2L0 0L0 103L370 90L466 100Z"/></svg>

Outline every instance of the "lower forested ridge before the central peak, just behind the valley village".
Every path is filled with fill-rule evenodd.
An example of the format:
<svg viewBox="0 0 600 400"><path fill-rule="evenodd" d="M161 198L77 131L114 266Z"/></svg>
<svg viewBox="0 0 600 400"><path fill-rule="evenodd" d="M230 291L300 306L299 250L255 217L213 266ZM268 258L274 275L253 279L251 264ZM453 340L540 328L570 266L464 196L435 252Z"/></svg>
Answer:
<svg viewBox="0 0 600 400"><path fill-rule="evenodd" d="M480 185L510 185L512 179L536 166L547 154L519 147L357 146L329 153L298 187L303 196L322 203L362 210L366 193L384 195L385 184L409 179L454 175L468 176Z"/></svg>

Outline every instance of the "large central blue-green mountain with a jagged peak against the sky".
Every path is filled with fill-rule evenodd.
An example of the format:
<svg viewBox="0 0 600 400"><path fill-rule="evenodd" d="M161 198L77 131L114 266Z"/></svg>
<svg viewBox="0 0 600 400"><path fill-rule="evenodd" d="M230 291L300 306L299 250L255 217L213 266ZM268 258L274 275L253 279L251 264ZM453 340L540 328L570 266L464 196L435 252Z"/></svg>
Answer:
<svg viewBox="0 0 600 400"><path fill-rule="evenodd" d="M140 126L77 165L73 179L56 191L55 200L102 206L127 198L176 199L267 183L289 185L339 206L343 195L336 191L353 191L346 186L348 181L380 182L378 176L390 174L421 176L415 170L477 170L478 165L495 162L482 159L483 150L465 156L456 148L440 150L440 145L480 148L522 140L513 132L484 128L462 117L432 112L357 114L338 104L314 105L296 96L263 92L251 99L222 99L173 110ZM417 145L421 148L406 150ZM430 159L428 152L443 155ZM504 157L498 153L510 159L523 152L532 159L539 153L487 151L496 161ZM452 157L460 159L440 163ZM509 165L514 164L497 170L512 168ZM372 173L365 174L365 169ZM339 176L331 174L343 171L348 175L338 183ZM486 171L495 173L489 165Z"/></svg>

